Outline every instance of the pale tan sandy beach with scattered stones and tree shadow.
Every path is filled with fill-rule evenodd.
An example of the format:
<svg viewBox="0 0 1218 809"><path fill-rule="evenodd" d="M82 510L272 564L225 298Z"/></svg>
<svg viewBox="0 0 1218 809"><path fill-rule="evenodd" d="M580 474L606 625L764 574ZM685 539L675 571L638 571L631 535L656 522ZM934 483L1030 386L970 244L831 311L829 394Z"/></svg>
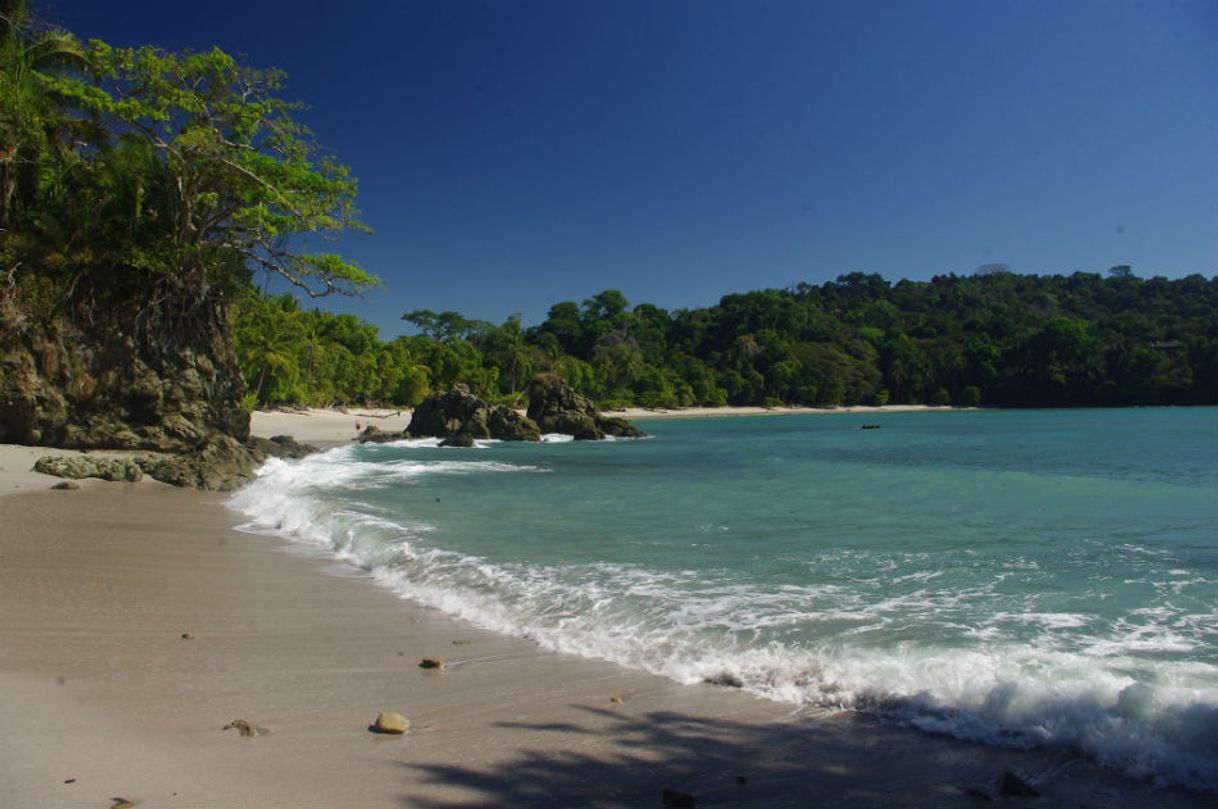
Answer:
<svg viewBox="0 0 1218 809"><path fill-rule="evenodd" d="M283 412L255 430L334 445L357 419L407 418ZM49 453L0 447L0 805L661 807L664 790L698 807L1212 799L1060 751L810 715L546 652L236 531L223 495L48 491L55 479L28 469ZM421 669L425 657L447 665ZM386 710L410 732L369 732ZM270 732L222 730L236 719ZM1041 797L1001 797L1005 771Z"/></svg>

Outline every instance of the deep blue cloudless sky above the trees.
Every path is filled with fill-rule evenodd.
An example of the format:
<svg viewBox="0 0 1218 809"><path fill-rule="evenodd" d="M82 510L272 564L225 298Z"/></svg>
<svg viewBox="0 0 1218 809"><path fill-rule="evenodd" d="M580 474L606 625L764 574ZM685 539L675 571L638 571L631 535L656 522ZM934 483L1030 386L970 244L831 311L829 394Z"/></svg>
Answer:
<svg viewBox="0 0 1218 809"><path fill-rule="evenodd" d="M287 71L374 228L328 308L544 318L889 280L1218 272L1213 0L33 0Z"/></svg>

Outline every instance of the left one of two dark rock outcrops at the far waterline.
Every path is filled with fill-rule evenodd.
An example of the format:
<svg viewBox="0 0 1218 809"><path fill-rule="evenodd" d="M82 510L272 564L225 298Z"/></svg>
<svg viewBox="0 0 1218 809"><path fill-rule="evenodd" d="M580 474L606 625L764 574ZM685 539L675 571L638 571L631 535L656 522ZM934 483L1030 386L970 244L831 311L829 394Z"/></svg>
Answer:
<svg viewBox="0 0 1218 809"><path fill-rule="evenodd" d="M451 446L469 446L475 439L541 440L541 431L532 420L510 407L474 396L463 384L425 398L414 408L406 434L415 439L445 439L452 442Z"/></svg>

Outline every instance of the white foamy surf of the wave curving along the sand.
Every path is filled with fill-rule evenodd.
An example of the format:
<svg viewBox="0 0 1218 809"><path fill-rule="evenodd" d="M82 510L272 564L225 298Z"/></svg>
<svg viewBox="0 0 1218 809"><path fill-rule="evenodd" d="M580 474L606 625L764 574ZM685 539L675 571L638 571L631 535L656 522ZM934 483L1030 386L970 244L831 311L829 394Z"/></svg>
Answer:
<svg viewBox="0 0 1218 809"><path fill-rule="evenodd" d="M430 448L414 442L412 447ZM680 682L731 675L754 693L829 710L862 710L929 732L1006 747L1066 746L1132 775L1218 791L1216 666L1160 662L1146 677L1140 652L1191 651L1195 643L1160 607L1132 612L1102 635L1072 645L1058 632L1089 631L1079 613L996 610L988 624L967 620L965 606L994 598L1015 559L989 582L939 584L940 570L915 554L878 559L896 578L843 579L759 592L705 571L659 573L630 564L493 564L429 547L431 526L336 508L328 489L408 485L424 475L537 473L543 468L466 459L357 461L343 447L300 462L268 462L231 506L248 530L325 547L371 571L375 581L419 603L538 645L652 671ZM705 530L723 526L705 524ZM1133 548L1146 552L1145 548ZM833 569L849 552L822 554ZM921 569L918 569L921 568ZM1185 575L1186 571L1172 571ZM903 584L904 592L867 590ZM938 590L932 588L938 586ZM910 616L931 613L938 634ZM1012 643L1000 626L1033 625L1038 645ZM832 634L809 626L832 627ZM950 631L968 640L952 646ZM911 640L873 643L872 637ZM786 634L794 640L782 641Z"/></svg>

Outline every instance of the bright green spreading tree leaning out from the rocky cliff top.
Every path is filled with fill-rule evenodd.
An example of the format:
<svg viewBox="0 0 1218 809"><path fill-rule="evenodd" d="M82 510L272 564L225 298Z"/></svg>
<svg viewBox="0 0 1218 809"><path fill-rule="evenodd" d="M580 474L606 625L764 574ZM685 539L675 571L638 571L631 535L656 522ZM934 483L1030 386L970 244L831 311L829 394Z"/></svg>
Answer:
<svg viewBox="0 0 1218 809"><path fill-rule="evenodd" d="M145 325L160 327L162 337L184 325L213 329L222 320L217 307L251 269L311 297L375 285L334 253L297 247L296 236L333 239L367 227L348 169L292 119L300 105L276 95L281 72L246 67L219 49L169 54L94 40L88 57L99 85L62 77L45 83L156 161L157 186L146 199L157 228L124 261L150 279Z"/></svg>

